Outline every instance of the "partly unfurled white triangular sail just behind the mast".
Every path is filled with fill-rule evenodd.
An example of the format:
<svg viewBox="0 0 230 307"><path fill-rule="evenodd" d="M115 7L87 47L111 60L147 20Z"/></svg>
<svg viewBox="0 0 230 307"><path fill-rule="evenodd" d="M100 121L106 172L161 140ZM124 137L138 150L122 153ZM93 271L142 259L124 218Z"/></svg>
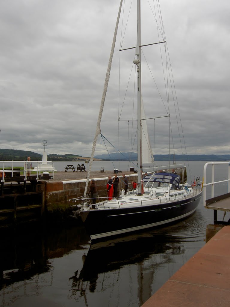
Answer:
<svg viewBox="0 0 230 307"><path fill-rule="evenodd" d="M147 120L145 120L143 101L141 103L141 152L142 152L142 165L153 163L154 158L148 137Z"/></svg>

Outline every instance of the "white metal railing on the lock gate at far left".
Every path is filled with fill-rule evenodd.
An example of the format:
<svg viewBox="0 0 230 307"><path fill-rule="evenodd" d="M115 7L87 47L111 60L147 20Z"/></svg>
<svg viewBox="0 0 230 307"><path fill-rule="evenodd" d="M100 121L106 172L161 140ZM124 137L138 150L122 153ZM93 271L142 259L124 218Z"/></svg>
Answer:
<svg viewBox="0 0 230 307"><path fill-rule="evenodd" d="M32 163L32 167L36 167L36 169L27 169L26 163ZM13 177L13 173L15 172L23 172L23 176L25 177L25 181L27 180L27 172L37 173L36 179L39 179L39 176L43 172L52 172L52 177L54 177L54 166L52 161L47 161L47 164L52 164L52 170L45 169L45 164L42 164L42 161L0 161L0 181L4 182L4 173L11 173L11 177ZM36 164L36 166L35 166ZM17 169L16 169L17 168ZM20 169L18 169L20 168Z"/></svg>

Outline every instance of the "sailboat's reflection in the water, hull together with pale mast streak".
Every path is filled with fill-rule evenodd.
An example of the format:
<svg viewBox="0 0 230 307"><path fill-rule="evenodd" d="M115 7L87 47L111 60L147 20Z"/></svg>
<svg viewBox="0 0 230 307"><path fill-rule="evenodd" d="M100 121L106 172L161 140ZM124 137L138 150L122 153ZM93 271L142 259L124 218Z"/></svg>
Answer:
<svg viewBox="0 0 230 307"><path fill-rule="evenodd" d="M159 268L174 262L174 255L185 252L176 241L170 235L150 232L91 244L82 258L82 270L70 278L71 296L83 295L86 286L90 292L98 292L109 284L121 287L124 283L124 290L129 288L129 298L138 294L139 304L143 304L151 296Z"/></svg>

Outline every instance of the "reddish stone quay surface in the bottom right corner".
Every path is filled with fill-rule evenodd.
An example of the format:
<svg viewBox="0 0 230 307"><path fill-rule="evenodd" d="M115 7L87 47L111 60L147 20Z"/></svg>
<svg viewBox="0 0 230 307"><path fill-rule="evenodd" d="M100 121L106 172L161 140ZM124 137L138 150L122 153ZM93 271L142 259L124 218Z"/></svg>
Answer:
<svg viewBox="0 0 230 307"><path fill-rule="evenodd" d="M230 226L224 226L142 307L230 306Z"/></svg>

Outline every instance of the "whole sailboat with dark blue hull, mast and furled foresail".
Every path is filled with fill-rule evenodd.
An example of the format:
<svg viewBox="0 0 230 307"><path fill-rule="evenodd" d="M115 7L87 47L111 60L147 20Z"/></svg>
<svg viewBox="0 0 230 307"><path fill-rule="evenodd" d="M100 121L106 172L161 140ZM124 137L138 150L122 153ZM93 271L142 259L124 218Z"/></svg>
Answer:
<svg viewBox="0 0 230 307"><path fill-rule="evenodd" d="M119 197L97 198L95 208L92 208L89 197L87 197L87 185L90 178L91 163L94 157L94 150L100 132L100 122L106 91L109 82L111 62L117 35L117 27L121 14L122 0L119 7L116 29L113 37L109 65L106 72L105 85L102 94L101 108L99 111L94 144L90 159L90 167L86 179L85 194L82 197L71 199L70 204L74 218L80 218L84 223L91 240L101 240L106 237L122 235L132 231L140 231L151 227L176 222L190 216L195 212L202 194L202 185L188 186L187 183L181 185L180 175L171 171L172 167L181 165L167 165L155 167L152 173L143 177L143 156L148 161L153 161L149 138L143 129L146 129L146 119L142 105L141 92L141 31L140 31L140 0L137 0L137 44L135 59L137 71L137 153L138 172L136 190L128 188L127 193L121 191ZM162 43L165 43L163 41ZM154 45L151 44L151 45ZM131 48L130 48L131 49ZM148 148L145 148L148 147ZM74 203L74 204L73 204Z"/></svg>

